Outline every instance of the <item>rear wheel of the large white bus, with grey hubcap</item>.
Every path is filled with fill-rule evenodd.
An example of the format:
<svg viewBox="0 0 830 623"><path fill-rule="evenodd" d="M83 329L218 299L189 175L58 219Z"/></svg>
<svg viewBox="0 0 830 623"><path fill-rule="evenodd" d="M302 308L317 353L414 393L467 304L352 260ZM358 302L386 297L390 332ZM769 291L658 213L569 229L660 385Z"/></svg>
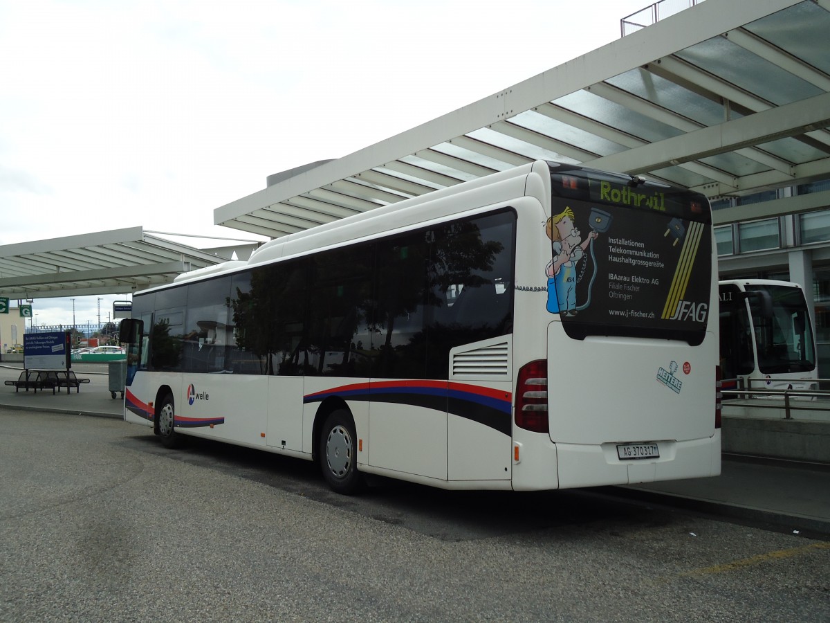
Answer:
<svg viewBox="0 0 830 623"><path fill-rule="evenodd" d="M325 482L335 493L352 495L364 485L358 471L357 435L349 411L334 411L325 420L317 452Z"/></svg>

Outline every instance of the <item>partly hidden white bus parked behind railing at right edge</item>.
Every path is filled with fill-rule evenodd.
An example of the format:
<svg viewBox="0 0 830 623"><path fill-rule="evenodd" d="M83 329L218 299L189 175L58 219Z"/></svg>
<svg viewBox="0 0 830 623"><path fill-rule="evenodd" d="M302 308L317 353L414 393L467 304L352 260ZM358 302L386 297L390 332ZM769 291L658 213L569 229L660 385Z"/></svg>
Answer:
<svg viewBox="0 0 830 623"><path fill-rule="evenodd" d="M798 283L733 279L718 291L725 387L818 390L813 325Z"/></svg>

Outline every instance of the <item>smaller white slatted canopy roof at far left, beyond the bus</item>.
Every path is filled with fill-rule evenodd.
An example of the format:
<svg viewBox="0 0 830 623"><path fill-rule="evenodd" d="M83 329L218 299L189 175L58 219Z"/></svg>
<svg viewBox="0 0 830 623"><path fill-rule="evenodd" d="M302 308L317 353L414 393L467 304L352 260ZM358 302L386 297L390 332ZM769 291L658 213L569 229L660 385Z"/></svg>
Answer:
<svg viewBox="0 0 830 623"><path fill-rule="evenodd" d="M0 294L82 297L134 292L227 258L145 233L114 229L0 246Z"/></svg>

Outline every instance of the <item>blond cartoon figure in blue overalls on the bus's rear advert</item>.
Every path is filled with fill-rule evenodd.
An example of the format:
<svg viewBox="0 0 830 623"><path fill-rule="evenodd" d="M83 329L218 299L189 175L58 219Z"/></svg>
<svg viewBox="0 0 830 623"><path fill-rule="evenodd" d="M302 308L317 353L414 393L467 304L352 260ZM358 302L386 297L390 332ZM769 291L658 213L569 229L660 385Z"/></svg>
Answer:
<svg viewBox="0 0 830 623"><path fill-rule="evenodd" d="M544 226L554 250L554 258L548 262L548 312L563 316L576 316L577 262L592 240L598 238L595 231L583 240L574 225L574 211L564 210L548 219Z"/></svg>

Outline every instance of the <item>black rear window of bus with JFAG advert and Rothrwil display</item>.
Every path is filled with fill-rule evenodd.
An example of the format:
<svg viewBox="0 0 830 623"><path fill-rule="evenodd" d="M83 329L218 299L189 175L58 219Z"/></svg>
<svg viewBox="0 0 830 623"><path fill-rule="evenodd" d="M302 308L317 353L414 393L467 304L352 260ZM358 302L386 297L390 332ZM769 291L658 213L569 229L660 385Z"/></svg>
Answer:
<svg viewBox="0 0 830 623"><path fill-rule="evenodd" d="M586 336L703 341L709 319L706 198L659 184L553 176L548 311Z"/></svg>

